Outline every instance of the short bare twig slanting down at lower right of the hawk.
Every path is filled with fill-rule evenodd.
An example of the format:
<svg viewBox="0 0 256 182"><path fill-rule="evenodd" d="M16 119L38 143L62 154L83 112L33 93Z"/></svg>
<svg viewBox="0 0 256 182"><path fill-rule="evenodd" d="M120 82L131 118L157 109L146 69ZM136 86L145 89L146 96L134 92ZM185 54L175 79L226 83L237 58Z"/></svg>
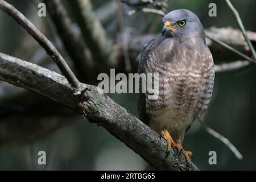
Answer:
<svg viewBox="0 0 256 182"><path fill-rule="evenodd" d="M240 160L243 159L242 154L237 150L237 148L231 142L229 142L229 140L227 138L223 137L221 134L217 133L216 131L214 131L207 125L205 125L205 123L200 118L198 120L201 123L201 125L204 127L205 131L207 131L213 137L221 140L221 142L224 143L226 146L228 146L229 149L234 153L234 155L236 155L236 157L238 159L240 159Z"/></svg>

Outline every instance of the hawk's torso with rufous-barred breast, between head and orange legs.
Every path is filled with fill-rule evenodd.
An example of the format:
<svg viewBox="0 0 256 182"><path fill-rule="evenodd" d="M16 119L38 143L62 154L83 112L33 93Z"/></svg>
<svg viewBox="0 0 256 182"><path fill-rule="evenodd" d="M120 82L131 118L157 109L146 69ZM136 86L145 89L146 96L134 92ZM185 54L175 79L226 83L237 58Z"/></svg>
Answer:
<svg viewBox="0 0 256 182"><path fill-rule="evenodd" d="M159 97L148 100L139 94L140 118L160 133L184 138L197 117L207 109L212 97L214 64L205 44L182 38L151 40L141 56L139 73L159 73Z"/></svg>

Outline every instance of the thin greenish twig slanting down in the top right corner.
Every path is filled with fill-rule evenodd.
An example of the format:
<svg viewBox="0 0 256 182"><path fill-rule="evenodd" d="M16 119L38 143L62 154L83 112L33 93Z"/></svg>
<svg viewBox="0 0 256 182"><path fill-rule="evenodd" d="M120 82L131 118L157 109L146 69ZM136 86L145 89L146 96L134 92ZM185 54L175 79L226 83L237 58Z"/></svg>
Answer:
<svg viewBox="0 0 256 182"><path fill-rule="evenodd" d="M255 49L254 49L253 44L251 44L251 41L250 41L250 39L248 38L248 36L246 34L245 27L243 26L243 23L242 23L242 20L240 18L240 15L239 15L238 11L234 8L234 6L232 5L232 3L229 0L226 0L226 3L228 4L230 10L233 11L234 16L237 19L237 23L238 23L238 25L240 26L240 28L242 30L243 36L244 36L248 46L250 47L251 53L253 54L254 62L256 62L256 52L255 52Z"/></svg>

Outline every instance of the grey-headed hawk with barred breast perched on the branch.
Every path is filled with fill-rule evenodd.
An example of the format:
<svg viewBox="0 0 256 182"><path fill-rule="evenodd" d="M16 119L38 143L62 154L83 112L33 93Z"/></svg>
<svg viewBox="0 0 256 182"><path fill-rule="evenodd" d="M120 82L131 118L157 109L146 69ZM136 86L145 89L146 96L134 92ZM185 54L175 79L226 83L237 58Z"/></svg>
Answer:
<svg viewBox="0 0 256 182"><path fill-rule="evenodd" d="M144 46L138 73L158 73L158 98L140 92L137 97L141 121L167 142L167 152L177 150L191 164L191 151L182 143L195 119L207 110L214 85L212 53L198 16L177 9L163 17L162 34ZM142 81L139 82L142 88Z"/></svg>

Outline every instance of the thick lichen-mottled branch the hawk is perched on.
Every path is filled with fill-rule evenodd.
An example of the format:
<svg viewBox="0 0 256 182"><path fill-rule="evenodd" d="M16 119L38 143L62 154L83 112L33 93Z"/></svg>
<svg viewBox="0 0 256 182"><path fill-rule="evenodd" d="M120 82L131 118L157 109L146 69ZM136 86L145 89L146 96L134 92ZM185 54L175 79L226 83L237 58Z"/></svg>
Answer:
<svg viewBox="0 0 256 182"><path fill-rule="evenodd" d="M166 154L166 142L125 108L116 104L96 86L87 88L82 98L75 96L64 76L38 65L0 53L0 80L32 90L86 115L158 169L187 169L183 155ZM198 170L192 164L190 170Z"/></svg>

